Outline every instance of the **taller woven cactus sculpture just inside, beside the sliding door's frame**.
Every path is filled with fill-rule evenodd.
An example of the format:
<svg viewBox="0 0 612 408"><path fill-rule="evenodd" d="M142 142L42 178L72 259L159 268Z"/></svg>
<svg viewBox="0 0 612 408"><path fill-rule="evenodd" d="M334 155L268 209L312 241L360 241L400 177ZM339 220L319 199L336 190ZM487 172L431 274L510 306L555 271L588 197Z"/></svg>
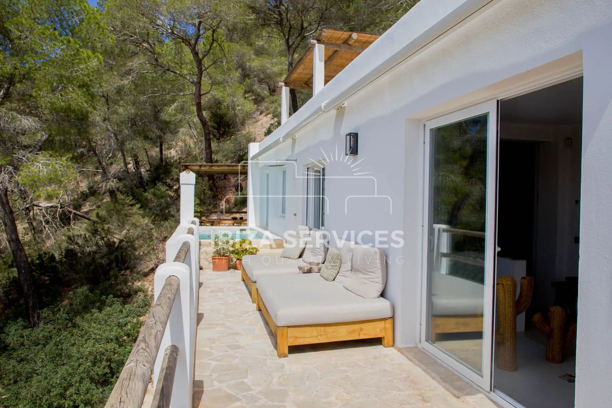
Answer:
<svg viewBox="0 0 612 408"><path fill-rule="evenodd" d="M495 332L497 347L495 359L499 369L517 371L517 316L529 307L534 291L534 278L521 278L521 291L517 299L517 281L512 276L500 276L496 283L498 328Z"/></svg>

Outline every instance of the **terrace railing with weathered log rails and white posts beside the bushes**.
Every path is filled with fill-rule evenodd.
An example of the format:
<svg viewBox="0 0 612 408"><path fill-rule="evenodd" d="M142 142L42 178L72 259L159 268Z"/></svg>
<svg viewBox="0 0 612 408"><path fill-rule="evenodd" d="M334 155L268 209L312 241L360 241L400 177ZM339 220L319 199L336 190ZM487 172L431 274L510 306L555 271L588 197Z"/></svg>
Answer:
<svg viewBox="0 0 612 408"><path fill-rule="evenodd" d="M152 408L170 408L173 393L179 398L173 406L191 407L200 272L198 224L193 219L179 226L166 243L166 261L170 263L160 265L155 272L155 304L106 408L140 408L154 367L158 372ZM167 346L160 352L162 344ZM175 382L177 375L181 380Z"/></svg>

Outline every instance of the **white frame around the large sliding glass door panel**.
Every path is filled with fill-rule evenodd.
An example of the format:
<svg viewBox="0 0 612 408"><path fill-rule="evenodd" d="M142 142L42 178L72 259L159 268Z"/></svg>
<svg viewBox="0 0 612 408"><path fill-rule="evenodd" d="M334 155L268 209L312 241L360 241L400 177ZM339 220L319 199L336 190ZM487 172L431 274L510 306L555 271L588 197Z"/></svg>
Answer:
<svg viewBox="0 0 612 408"><path fill-rule="evenodd" d="M482 339L482 377L468 366L446 354L442 349L430 344L427 336L427 289L428 289L428 247L429 247L429 200L430 200L430 130L442 125L468 119L488 113L487 134L487 204L485 226L485 281L484 281L484 315ZM444 116L436 117L424 124L425 160L424 160L424 206L423 206L423 241L422 245L422 292L421 292L421 330L419 346L450 368L474 382L485 391L491 390L491 364L493 352L493 289L494 261L496 257L496 197L497 197L497 162L498 162L498 100L493 99L468 108L460 109Z"/></svg>

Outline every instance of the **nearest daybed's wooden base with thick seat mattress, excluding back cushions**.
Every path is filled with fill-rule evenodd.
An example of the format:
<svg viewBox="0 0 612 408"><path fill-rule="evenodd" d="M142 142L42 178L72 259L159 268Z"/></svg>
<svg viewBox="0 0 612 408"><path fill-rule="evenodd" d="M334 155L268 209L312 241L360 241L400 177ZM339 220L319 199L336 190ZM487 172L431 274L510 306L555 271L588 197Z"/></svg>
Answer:
<svg viewBox="0 0 612 408"><path fill-rule="evenodd" d="M393 346L393 306L382 297L364 299L318 273L263 276L258 289L278 357L288 357L289 346L329 341L379 337Z"/></svg>

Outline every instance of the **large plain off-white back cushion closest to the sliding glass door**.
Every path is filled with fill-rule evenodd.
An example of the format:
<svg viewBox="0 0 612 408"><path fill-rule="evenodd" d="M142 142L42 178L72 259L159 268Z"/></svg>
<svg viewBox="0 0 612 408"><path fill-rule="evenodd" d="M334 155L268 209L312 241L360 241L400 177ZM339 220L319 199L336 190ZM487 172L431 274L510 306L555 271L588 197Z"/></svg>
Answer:
<svg viewBox="0 0 612 408"><path fill-rule="evenodd" d="M380 248L353 248L353 270L344 287L365 299L375 299L387 283L387 265Z"/></svg>

